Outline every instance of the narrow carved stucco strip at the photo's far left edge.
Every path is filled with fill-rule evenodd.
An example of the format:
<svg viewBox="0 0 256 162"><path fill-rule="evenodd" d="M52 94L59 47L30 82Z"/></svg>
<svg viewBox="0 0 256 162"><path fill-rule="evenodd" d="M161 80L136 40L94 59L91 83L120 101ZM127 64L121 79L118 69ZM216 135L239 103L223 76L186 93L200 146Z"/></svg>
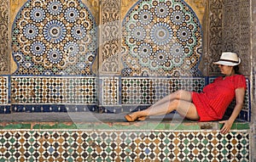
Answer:
<svg viewBox="0 0 256 162"><path fill-rule="evenodd" d="M9 73L9 0L0 0L0 74Z"/></svg>

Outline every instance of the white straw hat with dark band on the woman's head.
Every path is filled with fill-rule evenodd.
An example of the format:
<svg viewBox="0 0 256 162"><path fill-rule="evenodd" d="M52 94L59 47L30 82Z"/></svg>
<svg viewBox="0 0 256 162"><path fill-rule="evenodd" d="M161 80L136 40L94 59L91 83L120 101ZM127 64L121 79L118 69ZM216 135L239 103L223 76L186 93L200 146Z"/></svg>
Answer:
<svg viewBox="0 0 256 162"><path fill-rule="evenodd" d="M241 59L238 58L236 53L224 52L221 54L221 57L218 62L213 64L223 64L227 66L236 66L241 63Z"/></svg>

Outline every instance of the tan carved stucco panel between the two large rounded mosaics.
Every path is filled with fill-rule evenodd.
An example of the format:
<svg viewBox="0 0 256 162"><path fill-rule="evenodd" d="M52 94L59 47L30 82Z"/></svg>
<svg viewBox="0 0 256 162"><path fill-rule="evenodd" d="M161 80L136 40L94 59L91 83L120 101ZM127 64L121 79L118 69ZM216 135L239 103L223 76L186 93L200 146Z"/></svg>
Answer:
<svg viewBox="0 0 256 162"><path fill-rule="evenodd" d="M100 71L119 73L120 1L102 0L100 12Z"/></svg>

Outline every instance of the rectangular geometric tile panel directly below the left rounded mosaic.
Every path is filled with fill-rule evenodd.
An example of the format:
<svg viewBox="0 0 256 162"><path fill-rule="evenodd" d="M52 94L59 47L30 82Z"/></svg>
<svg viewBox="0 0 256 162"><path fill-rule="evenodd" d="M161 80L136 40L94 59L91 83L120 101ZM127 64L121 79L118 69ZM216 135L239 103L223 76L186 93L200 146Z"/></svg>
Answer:
<svg viewBox="0 0 256 162"><path fill-rule="evenodd" d="M12 76L12 103L87 103L97 101L96 77Z"/></svg>

